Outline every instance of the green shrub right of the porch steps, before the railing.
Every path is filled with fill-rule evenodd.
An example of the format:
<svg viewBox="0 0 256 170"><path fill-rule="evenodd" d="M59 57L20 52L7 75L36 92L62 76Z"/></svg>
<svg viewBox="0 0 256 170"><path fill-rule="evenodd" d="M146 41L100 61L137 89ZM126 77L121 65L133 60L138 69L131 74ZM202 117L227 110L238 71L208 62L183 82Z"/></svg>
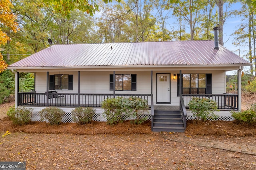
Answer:
<svg viewBox="0 0 256 170"><path fill-rule="evenodd" d="M217 103L208 98L192 98L188 103L188 107L193 113L193 116L196 116L196 121L201 119L206 121L207 119L218 118L218 115L214 114L214 111L218 111Z"/></svg>

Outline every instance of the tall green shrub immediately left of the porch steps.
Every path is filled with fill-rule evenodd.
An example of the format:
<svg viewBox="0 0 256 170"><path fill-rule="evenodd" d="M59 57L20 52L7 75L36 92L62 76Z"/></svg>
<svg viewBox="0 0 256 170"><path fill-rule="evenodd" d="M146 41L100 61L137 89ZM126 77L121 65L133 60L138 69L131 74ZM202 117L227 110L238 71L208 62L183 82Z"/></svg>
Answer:
<svg viewBox="0 0 256 170"><path fill-rule="evenodd" d="M148 109L148 100L144 100L142 98L137 98L137 97L131 97L129 98L130 100L130 108L133 110L133 115L136 116L136 119L134 120L135 124L141 124L144 121L146 121L146 118L140 118L142 115L141 111L147 110Z"/></svg>

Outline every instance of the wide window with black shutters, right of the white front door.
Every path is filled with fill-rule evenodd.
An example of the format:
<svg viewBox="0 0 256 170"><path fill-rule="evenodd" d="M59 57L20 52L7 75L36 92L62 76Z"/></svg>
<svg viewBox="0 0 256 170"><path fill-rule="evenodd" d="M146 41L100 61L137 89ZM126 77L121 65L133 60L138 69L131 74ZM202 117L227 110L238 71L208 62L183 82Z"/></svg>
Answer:
<svg viewBox="0 0 256 170"><path fill-rule="evenodd" d="M178 96L180 94L180 74L177 77ZM182 94L211 94L212 74L182 74Z"/></svg>

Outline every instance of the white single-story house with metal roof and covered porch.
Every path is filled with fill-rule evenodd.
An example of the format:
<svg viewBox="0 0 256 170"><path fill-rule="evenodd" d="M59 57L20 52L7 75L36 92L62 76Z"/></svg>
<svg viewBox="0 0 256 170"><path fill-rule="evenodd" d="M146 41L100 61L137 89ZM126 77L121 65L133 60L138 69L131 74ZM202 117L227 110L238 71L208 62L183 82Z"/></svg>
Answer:
<svg viewBox="0 0 256 170"><path fill-rule="evenodd" d="M194 118L187 107L193 96L215 100L219 119L232 120L230 110L241 108L241 71L248 65L216 38L52 45L8 68L16 73L16 107L33 108L35 121L48 106L66 111L64 122L72 121L74 107L95 107L93 119L102 121L104 99L137 96L148 100L143 116L152 120L152 131L179 132ZM226 94L230 70L238 70L238 94ZM18 91L19 72L35 73L35 92Z"/></svg>

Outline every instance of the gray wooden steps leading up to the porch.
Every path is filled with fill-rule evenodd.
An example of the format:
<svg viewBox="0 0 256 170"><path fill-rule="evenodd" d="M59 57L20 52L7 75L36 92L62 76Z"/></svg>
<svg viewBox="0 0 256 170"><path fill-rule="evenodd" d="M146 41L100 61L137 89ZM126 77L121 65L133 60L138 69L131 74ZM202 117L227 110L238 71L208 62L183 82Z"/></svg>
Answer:
<svg viewBox="0 0 256 170"><path fill-rule="evenodd" d="M154 132L184 132L180 110L154 110Z"/></svg>

